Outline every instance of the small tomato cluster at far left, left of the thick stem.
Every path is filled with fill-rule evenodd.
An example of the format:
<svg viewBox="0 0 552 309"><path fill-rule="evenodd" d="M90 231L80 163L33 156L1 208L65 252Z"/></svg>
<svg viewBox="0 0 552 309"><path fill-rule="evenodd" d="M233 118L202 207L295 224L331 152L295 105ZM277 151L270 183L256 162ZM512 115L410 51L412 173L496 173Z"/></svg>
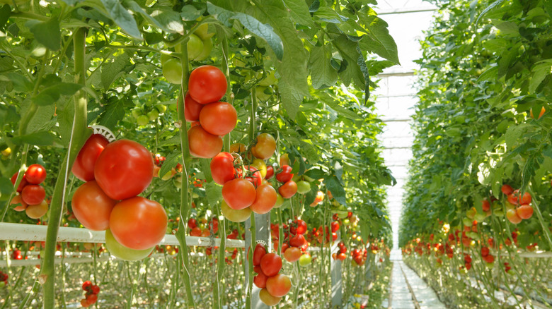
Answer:
<svg viewBox="0 0 552 309"><path fill-rule="evenodd" d="M11 176L11 184L16 185L18 172ZM31 219L38 219L48 212L48 203L46 202L46 190L40 186L46 179L46 169L40 164L30 165L21 182L17 187L18 195L11 199L10 204L15 205L13 210L18 212L25 211L25 214Z"/></svg>

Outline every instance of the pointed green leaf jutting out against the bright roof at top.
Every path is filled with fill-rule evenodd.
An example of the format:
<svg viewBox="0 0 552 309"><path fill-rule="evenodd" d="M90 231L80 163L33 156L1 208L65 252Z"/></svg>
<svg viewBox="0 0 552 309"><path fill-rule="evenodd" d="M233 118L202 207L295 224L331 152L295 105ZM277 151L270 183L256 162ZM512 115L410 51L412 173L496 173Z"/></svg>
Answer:
<svg viewBox="0 0 552 309"><path fill-rule="evenodd" d="M387 23L374 15L360 15L359 18L367 28L367 35L363 35L358 43L360 49L374 52L389 61L401 64L398 61L397 44L393 37L389 35Z"/></svg>

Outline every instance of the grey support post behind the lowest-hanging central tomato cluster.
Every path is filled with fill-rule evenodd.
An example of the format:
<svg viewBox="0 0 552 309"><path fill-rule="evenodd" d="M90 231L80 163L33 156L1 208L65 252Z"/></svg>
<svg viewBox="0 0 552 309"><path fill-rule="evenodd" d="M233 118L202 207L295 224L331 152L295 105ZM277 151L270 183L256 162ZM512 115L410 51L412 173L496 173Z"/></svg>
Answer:
<svg viewBox="0 0 552 309"><path fill-rule="evenodd" d="M255 232L256 241L265 241L268 245L267 252L270 253L272 244L270 243L270 212L268 214L255 214ZM249 228L251 227L251 219L246 221L246 250L251 246L251 233ZM253 241L253 248L257 246L257 243ZM249 269L247 263L244 263L246 282L249 282ZM265 305L259 298L260 289L253 284L253 290L251 291L251 309L269 309L268 305Z"/></svg>

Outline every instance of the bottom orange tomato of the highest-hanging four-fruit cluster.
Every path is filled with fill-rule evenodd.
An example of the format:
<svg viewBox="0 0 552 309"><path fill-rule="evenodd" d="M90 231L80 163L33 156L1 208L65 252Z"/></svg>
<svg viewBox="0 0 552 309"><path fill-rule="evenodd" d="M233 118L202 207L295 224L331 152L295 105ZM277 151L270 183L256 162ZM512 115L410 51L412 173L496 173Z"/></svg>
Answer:
<svg viewBox="0 0 552 309"><path fill-rule="evenodd" d="M188 130L190 154L198 158L212 158L222 150L222 137L212 135L202 126L192 126Z"/></svg>

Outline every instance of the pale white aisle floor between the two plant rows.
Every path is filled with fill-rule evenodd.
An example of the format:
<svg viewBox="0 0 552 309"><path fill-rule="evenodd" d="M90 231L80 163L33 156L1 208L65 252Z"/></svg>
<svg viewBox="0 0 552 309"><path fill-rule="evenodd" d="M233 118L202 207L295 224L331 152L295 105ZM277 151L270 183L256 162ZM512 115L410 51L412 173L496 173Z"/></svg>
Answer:
<svg viewBox="0 0 552 309"><path fill-rule="evenodd" d="M405 278L406 277L406 278ZM414 296L408 289L408 284L412 289ZM415 300L413 300L415 299ZM415 305L418 302L419 307ZM440 309L447 308L439 301L437 294L430 286L418 277L418 274L413 272L402 261L393 263L393 274L391 279L391 304L389 308L393 309Z"/></svg>

